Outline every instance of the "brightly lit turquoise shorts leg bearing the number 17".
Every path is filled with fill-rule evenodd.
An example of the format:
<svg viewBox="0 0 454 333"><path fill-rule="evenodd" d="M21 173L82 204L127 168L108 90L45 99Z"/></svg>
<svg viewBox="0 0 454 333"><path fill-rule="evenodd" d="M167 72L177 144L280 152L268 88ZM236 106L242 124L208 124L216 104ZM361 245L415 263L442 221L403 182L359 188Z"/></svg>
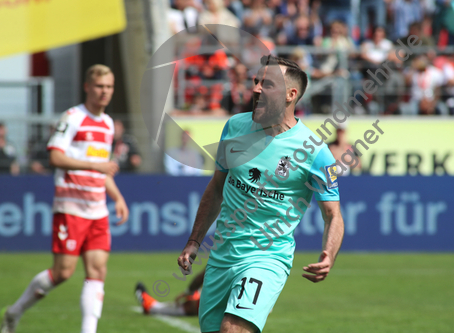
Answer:
<svg viewBox="0 0 454 333"><path fill-rule="evenodd" d="M261 332L286 281L284 269L267 262L239 270L225 312L254 324Z"/></svg>

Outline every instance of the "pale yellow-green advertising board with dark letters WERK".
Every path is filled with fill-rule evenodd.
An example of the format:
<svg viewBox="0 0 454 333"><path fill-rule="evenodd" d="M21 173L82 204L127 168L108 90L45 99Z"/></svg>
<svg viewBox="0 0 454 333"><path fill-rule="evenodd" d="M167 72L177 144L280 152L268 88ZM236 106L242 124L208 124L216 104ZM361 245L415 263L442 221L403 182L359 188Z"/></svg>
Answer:
<svg viewBox="0 0 454 333"><path fill-rule="evenodd" d="M303 123L312 131L320 128L326 118L305 118ZM174 118L201 147L219 141L226 119ZM362 153L362 173L371 175L454 175L454 120L448 118L378 118L379 134L373 123L377 118L350 117L347 135L350 144L362 140L367 150L357 144ZM335 133L331 125L326 126ZM378 140L368 144L366 131L375 130ZM325 131L323 133L326 134ZM318 135L320 137L320 135ZM333 141L335 135L326 135L326 142ZM180 144L179 136L166 133L166 147ZM370 141L370 140L369 140ZM346 158L349 161L349 158ZM214 165L206 161L206 165Z"/></svg>

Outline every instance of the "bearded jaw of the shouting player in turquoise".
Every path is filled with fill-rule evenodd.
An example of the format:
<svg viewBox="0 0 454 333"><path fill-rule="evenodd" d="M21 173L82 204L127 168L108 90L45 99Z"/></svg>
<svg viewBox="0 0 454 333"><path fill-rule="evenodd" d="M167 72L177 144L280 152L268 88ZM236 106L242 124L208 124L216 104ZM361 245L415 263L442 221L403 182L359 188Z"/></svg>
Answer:
<svg viewBox="0 0 454 333"><path fill-rule="evenodd" d="M282 122L285 114L285 99L267 99L259 96L254 98L252 120L267 128Z"/></svg>

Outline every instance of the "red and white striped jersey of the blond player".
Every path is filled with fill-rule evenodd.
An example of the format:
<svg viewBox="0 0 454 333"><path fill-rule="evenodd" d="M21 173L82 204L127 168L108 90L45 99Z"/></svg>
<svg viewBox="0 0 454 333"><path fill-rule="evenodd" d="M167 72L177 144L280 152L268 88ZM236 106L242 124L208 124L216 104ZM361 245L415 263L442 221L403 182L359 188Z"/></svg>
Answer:
<svg viewBox="0 0 454 333"><path fill-rule="evenodd" d="M94 116L80 104L63 113L47 149L61 150L81 161L108 162L113 134L111 117L105 113ZM105 179L105 174L94 170L57 168L54 213L93 220L107 216Z"/></svg>

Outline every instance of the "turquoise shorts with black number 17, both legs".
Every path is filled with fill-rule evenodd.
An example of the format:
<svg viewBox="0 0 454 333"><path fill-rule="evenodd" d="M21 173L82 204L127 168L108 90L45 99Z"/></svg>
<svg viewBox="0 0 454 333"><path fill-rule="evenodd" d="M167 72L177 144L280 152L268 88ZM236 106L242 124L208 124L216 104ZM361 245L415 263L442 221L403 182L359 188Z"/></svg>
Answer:
<svg viewBox="0 0 454 333"><path fill-rule="evenodd" d="M225 313L251 322L261 332L287 277L270 261L230 268L207 265L199 307L202 332L219 331Z"/></svg>

